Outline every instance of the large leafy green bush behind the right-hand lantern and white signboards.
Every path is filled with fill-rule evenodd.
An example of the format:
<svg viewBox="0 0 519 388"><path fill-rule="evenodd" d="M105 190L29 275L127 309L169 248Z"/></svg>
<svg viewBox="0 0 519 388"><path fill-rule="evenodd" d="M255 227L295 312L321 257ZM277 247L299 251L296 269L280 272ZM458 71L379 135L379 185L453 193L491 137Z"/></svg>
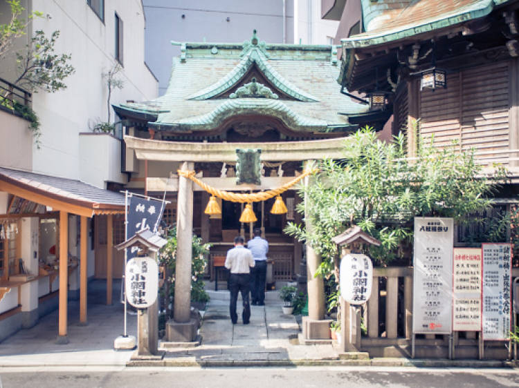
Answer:
<svg viewBox="0 0 519 388"><path fill-rule="evenodd" d="M418 157L406 155L403 134L387 143L363 128L344 145L344 157L320 162L313 184L300 190L298 206L313 226L289 223L286 233L322 255L320 275L338 275L337 246L331 241L358 225L381 241L368 255L379 265L410 264L415 216L453 217L462 222L491 206L491 195L505 182L502 168L484 173L473 150L453 144L438 148L432 138L419 142Z"/></svg>

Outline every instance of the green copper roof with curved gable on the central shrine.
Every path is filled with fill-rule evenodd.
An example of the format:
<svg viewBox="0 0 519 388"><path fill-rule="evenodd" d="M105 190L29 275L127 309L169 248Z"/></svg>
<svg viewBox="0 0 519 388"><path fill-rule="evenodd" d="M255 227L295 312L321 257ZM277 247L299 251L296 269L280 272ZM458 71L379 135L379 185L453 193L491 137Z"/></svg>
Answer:
<svg viewBox="0 0 519 388"><path fill-rule="evenodd" d="M212 120L221 118L223 112L232 115L233 108L262 110L261 114L281 119L292 130L326 130L352 126L347 116L338 113L367 110L367 106L340 93L332 46L187 43L183 50L181 57L173 59L165 95L152 101L155 109L162 110L152 124L159 130L214 128L217 123ZM253 64L286 98L218 97L240 85ZM121 104L117 108L123 116L125 111L149 111L143 104Z"/></svg>

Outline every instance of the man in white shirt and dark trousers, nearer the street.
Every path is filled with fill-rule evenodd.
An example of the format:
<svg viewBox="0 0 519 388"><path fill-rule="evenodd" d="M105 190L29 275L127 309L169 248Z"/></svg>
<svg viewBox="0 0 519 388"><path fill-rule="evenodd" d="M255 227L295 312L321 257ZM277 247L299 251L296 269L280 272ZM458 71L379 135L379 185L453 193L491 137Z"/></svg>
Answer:
<svg viewBox="0 0 519 388"><path fill-rule="evenodd" d="M230 291L230 320L233 324L238 321L236 313L236 302L238 300L238 291L242 293L242 302L244 311L242 320L244 324L248 324L251 319L251 304L248 301L248 293L250 291L251 277L249 275L250 268L255 264L253 254L244 247L244 237L235 237L235 247L229 249L226 256L225 266L230 269L229 291Z"/></svg>

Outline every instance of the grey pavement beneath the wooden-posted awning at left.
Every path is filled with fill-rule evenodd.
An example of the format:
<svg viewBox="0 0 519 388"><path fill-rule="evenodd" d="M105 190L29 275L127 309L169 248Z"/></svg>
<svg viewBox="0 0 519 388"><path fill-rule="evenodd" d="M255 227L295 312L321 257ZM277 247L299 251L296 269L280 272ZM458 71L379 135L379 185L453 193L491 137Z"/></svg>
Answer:
<svg viewBox="0 0 519 388"><path fill-rule="evenodd" d="M102 280L89 283L88 324L80 325L79 302L69 301L66 345L56 345L57 310L42 317L35 327L22 329L0 342L0 367L50 365L125 365L131 351L114 351L113 340L122 333L123 306L118 282L113 304L107 306ZM137 318L128 316L128 333L136 336Z"/></svg>

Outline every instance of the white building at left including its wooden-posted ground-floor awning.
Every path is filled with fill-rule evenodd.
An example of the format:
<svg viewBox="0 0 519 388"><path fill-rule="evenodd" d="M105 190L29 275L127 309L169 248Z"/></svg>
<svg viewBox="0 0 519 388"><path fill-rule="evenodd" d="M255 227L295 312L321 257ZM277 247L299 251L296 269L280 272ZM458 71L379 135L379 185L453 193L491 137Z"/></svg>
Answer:
<svg viewBox="0 0 519 388"><path fill-rule="evenodd" d="M50 266L60 256L61 246L67 245L62 244L63 240L68 240L69 258L83 257L79 242L83 234L79 233L80 215L88 221L90 231L85 237L88 247L85 275L91 278L98 262L107 260L106 252L102 258L94 254L91 217L102 215L106 227L107 217L121 213L120 195L104 189L110 184L124 185L127 177L121 172L120 138L92 133L96 122L108 119L108 88L102 74L114 64L122 66L118 77L124 84L121 89L112 90L111 104L153 99L158 94L158 81L145 64L142 1L22 0L21 3L28 12L37 10L44 17L28 24L26 35L17 39L12 52L23 49L37 30L43 30L47 36L60 30L56 53L71 54L75 72L64 79L66 89L30 96L30 104L41 123L39 148L33 142L28 122L8 109L0 109L0 340L21 327L33 326L39 316L57 306L60 282L67 284L66 279L60 279L67 278L66 271L42 271L42 266ZM1 0L0 23L9 18L10 7ZM9 82L16 79L13 59L11 54L0 60L0 88L4 91L12 88ZM111 109L111 122L116 119ZM99 206L105 205L112 210L101 211ZM80 210L82 206L86 206L86 211ZM68 218L66 224L62 224L63 215ZM61 239L58 237L60 225L68 230L68 239L63 239L63 235ZM62 256L60 264L66 265L67 255ZM30 275L24 276L21 264ZM69 261L68 269L68 291L76 297L80 289L79 264L79 259L75 266ZM51 274L44 275L46 272ZM111 272L106 276L111 276ZM60 293L64 295L66 290ZM63 335L61 316L60 299L60 336L64 337L66 320Z"/></svg>

